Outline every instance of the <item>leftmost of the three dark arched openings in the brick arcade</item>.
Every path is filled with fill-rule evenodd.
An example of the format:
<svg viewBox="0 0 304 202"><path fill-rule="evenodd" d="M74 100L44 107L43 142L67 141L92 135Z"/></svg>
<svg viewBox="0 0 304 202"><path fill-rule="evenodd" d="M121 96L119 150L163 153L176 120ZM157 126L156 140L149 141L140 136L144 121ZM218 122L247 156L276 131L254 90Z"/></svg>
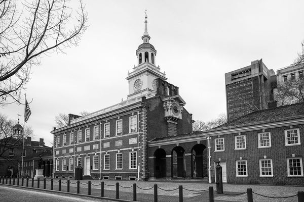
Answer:
<svg viewBox="0 0 304 202"><path fill-rule="evenodd" d="M154 175L156 178L167 176L166 151L162 148L156 149L154 153Z"/></svg>

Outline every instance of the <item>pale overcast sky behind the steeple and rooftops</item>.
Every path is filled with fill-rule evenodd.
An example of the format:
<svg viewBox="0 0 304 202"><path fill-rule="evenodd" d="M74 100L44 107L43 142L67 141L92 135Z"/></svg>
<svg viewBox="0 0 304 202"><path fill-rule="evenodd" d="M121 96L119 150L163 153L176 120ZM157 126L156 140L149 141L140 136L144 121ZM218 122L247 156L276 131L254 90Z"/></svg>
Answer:
<svg viewBox="0 0 304 202"><path fill-rule="evenodd" d="M72 1L74 4L76 1ZM293 63L304 40L304 1L89 1L88 29L66 54L44 56L26 86L32 140L52 146L55 116L95 112L128 95L147 10L156 65L179 87L194 120L226 112L224 74L263 59L275 72ZM10 119L24 106L0 108ZM23 120L23 117L21 118Z"/></svg>

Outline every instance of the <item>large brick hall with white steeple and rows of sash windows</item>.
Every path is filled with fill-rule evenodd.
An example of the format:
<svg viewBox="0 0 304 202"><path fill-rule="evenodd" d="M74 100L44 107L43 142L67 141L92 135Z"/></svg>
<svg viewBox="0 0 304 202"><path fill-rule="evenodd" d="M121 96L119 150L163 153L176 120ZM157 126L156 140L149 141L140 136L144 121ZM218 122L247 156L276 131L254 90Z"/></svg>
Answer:
<svg viewBox="0 0 304 202"><path fill-rule="evenodd" d="M192 114L156 66L156 49L149 43L145 19L143 43L136 50L138 65L128 72L129 94L121 103L84 117L69 115L69 124L54 128L53 176L73 178L83 167L87 178L147 179L147 142L192 132Z"/></svg>

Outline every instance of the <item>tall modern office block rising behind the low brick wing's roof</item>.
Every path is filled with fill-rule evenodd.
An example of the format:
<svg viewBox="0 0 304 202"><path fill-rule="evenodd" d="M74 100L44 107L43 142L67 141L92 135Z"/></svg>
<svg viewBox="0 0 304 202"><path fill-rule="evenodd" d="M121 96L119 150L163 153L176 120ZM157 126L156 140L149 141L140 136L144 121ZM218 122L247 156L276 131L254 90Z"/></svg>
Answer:
<svg viewBox="0 0 304 202"><path fill-rule="evenodd" d="M261 60L251 65L225 73L227 120L267 109L271 100L271 77L275 72L269 70Z"/></svg>

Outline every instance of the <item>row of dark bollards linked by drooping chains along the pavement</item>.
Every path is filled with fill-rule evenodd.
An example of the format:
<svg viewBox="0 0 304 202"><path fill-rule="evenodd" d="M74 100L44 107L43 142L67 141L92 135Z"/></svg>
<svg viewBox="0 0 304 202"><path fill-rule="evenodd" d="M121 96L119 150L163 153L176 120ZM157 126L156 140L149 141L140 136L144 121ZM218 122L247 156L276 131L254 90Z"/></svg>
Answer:
<svg viewBox="0 0 304 202"><path fill-rule="evenodd" d="M25 180L25 185L24 185L24 180ZM20 182L21 181L21 182ZM120 185L118 182L116 182L115 184L105 184L103 181L101 181L99 184L93 184L91 183L91 181L88 181L87 183L82 183L80 180L77 180L77 182L70 182L70 180L66 180L65 182L61 181L61 179L58 180L54 180L51 179L51 184L50 184L50 190L54 190L54 182L57 183L58 182L58 191L61 191L61 185L62 184L66 184L66 192L70 192L70 184L76 184L77 185L77 194L80 193L80 185L87 185L87 195L91 195L91 185L94 186L100 186L100 197L104 197L104 186L115 186L115 199L119 199L120 198L120 187L122 188L126 188L126 189L131 189L133 188L133 201L137 201L137 188L141 189L141 190L154 190L154 202L158 202L158 190L163 190L163 191L175 191L178 189L178 201L179 202L183 202L183 190L186 191L191 191L191 192L204 192L204 191L209 191L209 202L214 202L214 193L217 193L216 190L213 189L212 186L210 186L208 189L204 189L204 190L191 190L191 189L186 189L184 188L182 185L179 185L177 188L174 189L164 189L159 187L157 184L154 184L153 187L150 188L142 188L136 185L136 183L134 183L132 186L122 186ZM17 186L22 186L22 187L29 187L29 178L8 178L8 177L2 177L0 178L0 183L2 184L10 184L10 185L17 185ZM21 184L21 185L20 185ZM34 178L31 178L31 186L32 188L38 188L40 189L40 179L37 179L37 184L36 187L34 187ZM46 189L46 179L43 179L43 189ZM280 196L280 197L275 197L275 196L267 196L267 195L263 195L263 194L259 194L254 192L251 188L247 188L246 191L242 192L242 193L236 193L236 194L226 194L226 193L222 193L222 195L229 195L229 196L237 196L237 195L242 195L242 194L246 194L247 193L247 201L248 202L253 202L253 194L262 196L262 197L267 197L267 198L291 198L291 197L297 197L298 202L304 202L304 191L298 191L296 194L294 195L289 195L289 196Z"/></svg>

